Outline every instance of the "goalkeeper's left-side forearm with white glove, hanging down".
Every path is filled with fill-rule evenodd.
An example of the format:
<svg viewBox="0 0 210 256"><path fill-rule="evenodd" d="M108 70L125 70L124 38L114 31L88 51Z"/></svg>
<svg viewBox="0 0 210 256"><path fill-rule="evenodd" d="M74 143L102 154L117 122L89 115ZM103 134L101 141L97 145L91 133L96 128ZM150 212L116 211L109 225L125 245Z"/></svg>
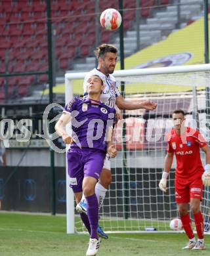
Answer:
<svg viewBox="0 0 210 256"><path fill-rule="evenodd" d="M169 171L171 170L171 165L173 163L173 153L167 152L164 162L164 171L162 174L162 179L159 181L159 189L163 192L167 191L167 177L169 176Z"/></svg>

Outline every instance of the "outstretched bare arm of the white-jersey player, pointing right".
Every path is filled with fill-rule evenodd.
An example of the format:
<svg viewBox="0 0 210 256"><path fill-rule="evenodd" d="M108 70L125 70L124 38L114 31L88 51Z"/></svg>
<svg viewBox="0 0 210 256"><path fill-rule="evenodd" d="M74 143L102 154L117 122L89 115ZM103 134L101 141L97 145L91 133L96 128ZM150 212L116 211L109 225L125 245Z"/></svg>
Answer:
<svg viewBox="0 0 210 256"><path fill-rule="evenodd" d="M137 110L140 108L155 110L158 106L158 104L152 100L136 100L131 102L129 100L125 100L121 95L117 96L116 105L120 110Z"/></svg>

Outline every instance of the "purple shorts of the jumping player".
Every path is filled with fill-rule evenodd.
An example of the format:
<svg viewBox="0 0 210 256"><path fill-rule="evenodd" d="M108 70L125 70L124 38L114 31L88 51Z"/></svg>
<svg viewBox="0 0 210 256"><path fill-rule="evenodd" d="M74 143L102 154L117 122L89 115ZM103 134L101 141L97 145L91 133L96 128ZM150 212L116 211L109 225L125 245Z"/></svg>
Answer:
<svg viewBox="0 0 210 256"><path fill-rule="evenodd" d="M98 181L104 165L106 152L95 148L72 147L67 153L70 187L75 193L81 192L83 178L90 176Z"/></svg>

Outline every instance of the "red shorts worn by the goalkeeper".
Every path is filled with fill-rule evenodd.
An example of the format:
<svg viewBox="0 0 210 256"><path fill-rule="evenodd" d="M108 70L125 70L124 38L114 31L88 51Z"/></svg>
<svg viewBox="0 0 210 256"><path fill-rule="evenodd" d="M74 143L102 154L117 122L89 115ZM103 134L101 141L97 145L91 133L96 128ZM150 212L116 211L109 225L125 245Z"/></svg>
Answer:
<svg viewBox="0 0 210 256"><path fill-rule="evenodd" d="M190 198L202 200L203 182L201 178L194 181L183 181L175 179L175 199L176 203L189 203Z"/></svg>

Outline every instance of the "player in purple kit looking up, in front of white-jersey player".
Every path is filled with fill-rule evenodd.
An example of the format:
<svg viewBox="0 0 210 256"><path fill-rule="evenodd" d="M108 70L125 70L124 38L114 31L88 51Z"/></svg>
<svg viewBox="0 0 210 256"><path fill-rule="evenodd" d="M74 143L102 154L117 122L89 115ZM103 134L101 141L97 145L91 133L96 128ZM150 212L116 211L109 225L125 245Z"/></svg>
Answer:
<svg viewBox="0 0 210 256"><path fill-rule="evenodd" d="M81 220L90 234L87 256L95 255L100 245L98 238L98 200L95 194L96 182L104 165L106 152L114 158L117 150L112 145L112 130L116 110L100 102L104 88L102 79L93 75L87 83L87 98L74 98L58 119L56 132L64 143L70 144L68 151L68 174L70 186L74 191L77 203L82 193L87 201L87 215L80 213ZM66 131L66 124L72 123L72 137Z"/></svg>

